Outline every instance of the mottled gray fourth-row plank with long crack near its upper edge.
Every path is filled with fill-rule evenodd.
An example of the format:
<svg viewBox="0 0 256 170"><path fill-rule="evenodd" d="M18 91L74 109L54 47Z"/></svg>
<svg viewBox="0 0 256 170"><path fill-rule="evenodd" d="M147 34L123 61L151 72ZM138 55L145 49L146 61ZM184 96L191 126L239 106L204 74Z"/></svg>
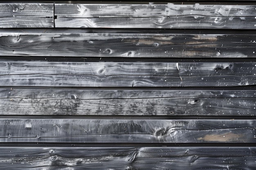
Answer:
<svg viewBox="0 0 256 170"><path fill-rule="evenodd" d="M0 115L254 116L256 91L0 88L0 108Z"/></svg>

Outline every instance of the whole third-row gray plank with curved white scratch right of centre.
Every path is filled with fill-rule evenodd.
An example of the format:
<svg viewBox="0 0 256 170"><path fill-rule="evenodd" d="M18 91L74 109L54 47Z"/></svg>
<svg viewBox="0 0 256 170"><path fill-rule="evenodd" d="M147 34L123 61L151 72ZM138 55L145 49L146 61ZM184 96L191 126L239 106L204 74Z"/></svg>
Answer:
<svg viewBox="0 0 256 170"><path fill-rule="evenodd" d="M256 84L256 64L0 61L0 86L178 87Z"/></svg>

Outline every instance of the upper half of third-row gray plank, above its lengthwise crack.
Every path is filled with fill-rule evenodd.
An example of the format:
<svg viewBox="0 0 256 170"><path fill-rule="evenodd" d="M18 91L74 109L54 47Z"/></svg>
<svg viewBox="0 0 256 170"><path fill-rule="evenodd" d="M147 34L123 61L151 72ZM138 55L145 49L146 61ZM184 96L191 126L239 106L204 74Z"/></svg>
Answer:
<svg viewBox="0 0 256 170"><path fill-rule="evenodd" d="M0 75L256 75L256 62L47 62L0 59Z"/></svg>

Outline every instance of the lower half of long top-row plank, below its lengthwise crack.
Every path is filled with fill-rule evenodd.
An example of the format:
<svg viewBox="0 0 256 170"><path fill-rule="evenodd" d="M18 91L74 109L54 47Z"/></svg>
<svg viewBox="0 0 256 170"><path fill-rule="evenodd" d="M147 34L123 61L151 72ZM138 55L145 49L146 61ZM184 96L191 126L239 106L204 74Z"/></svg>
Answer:
<svg viewBox="0 0 256 170"><path fill-rule="evenodd" d="M196 17L196 19L195 19ZM256 29L254 17L57 18L57 28Z"/></svg>

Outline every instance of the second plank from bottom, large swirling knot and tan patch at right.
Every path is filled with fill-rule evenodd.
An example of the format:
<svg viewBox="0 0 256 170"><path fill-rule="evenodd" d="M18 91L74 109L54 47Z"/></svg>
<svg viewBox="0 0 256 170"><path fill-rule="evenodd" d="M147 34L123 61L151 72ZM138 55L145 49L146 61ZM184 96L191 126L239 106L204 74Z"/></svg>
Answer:
<svg viewBox="0 0 256 170"><path fill-rule="evenodd" d="M0 142L256 143L256 120L0 119Z"/></svg>

